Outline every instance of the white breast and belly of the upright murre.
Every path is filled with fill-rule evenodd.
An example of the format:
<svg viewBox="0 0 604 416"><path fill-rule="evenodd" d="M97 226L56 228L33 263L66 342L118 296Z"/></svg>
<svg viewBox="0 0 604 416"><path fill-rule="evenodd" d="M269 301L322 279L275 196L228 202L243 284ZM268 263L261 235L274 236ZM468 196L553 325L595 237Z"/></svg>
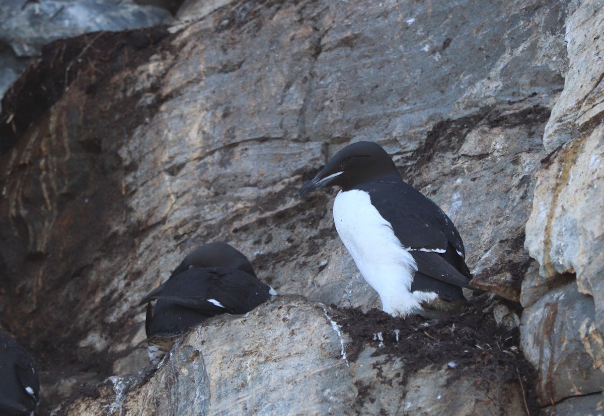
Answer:
<svg viewBox="0 0 604 416"><path fill-rule="evenodd" d="M333 202L333 221L359 271L380 295L384 312L405 316L437 297L434 292L411 292L416 262L367 192L340 191Z"/></svg>

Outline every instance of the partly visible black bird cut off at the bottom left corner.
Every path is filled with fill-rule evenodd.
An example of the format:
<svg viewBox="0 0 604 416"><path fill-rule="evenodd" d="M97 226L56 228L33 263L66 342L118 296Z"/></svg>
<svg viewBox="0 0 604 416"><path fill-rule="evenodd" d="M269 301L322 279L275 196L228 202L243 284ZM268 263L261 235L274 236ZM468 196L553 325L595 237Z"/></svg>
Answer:
<svg viewBox="0 0 604 416"><path fill-rule="evenodd" d="M40 401L40 380L25 348L0 332L0 415L33 415Z"/></svg>

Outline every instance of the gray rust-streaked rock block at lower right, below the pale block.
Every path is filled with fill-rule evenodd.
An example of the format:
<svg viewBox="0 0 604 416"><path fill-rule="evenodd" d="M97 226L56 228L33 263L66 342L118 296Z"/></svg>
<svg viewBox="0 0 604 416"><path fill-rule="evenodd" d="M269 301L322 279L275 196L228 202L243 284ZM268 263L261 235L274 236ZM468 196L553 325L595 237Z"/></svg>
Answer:
<svg viewBox="0 0 604 416"><path fill-rule="evenodd" d="M522 351L539 373L542 405L602 391L602 335L595 325L594 300L579 293L576 283L524 309L520 332Z"/></svg>

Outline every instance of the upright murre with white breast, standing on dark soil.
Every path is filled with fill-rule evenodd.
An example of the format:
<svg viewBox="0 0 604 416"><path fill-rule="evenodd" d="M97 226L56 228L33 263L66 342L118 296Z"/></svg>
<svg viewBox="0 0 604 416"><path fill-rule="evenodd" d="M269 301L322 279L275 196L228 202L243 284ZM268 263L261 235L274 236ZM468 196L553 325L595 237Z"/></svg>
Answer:
<svg viewBox="0 0 604 416"><path fill-rule="evenodd" d="M382 309L394 317L435 317L466 303L463 241L434 202L405 183L377 143L358 142L333 156L300 195L329 186L336 230Z"/></svg>

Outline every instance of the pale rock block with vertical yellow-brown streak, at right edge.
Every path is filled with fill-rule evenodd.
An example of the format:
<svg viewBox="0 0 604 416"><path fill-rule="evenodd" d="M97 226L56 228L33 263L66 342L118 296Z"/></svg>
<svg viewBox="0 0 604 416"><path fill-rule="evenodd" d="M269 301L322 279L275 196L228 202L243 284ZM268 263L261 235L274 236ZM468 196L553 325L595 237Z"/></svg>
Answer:
<svg viewBox="0 0 604 416"><path fill-rule="evenodd" d="M582 291L590 294L604 271L604 216L594 210L604 204L603 137L599 125L568 142L538 172L526 228L525 245L539 261L541 275L576 273Z"/></svg>

